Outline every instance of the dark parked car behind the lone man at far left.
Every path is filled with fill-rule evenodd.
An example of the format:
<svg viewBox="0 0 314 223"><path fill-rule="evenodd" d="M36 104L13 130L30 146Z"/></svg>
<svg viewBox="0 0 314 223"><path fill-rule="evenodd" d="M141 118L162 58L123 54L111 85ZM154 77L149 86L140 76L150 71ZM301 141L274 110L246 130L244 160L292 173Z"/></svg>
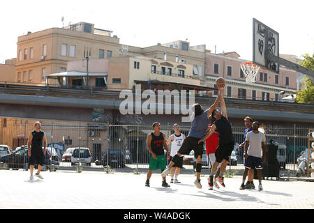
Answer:
<svg viewBox="0 0 314 223"><path fill-rule="evenodd" d="M54 164L54 169L59 169L59 161L55 160L53 153L56 153L54 148L46 150L44 165L50 169L50 164ZM27 167L29 167L27 147L23 146L17 150L15 149L13 153L3 155L3 157L0 157L0 162L3 162L4 168L7 169L27 169Z"/></svg>

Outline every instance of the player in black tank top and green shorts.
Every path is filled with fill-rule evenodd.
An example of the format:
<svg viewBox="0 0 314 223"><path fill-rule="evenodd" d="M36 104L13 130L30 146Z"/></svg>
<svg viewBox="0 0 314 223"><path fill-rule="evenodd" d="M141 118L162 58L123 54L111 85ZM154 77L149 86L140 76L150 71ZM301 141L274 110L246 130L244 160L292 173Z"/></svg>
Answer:
<svg viewBox="0 0 314 223"><path fill-rule="evenodd" d="M149 180L154 170L160 169L163 171L167 165L165 160L164 149L167 151L167 157L170 158L170 151L168 150L167 143L165 141L165 134L160 132L160 123L153 123L154 132L151 132L147 137L147 147L149 153L151 153L151 160L149 162L149 171L147 173L147 180L145 186L149 187ZM163 176L163 187L170 187Z"/></svg>

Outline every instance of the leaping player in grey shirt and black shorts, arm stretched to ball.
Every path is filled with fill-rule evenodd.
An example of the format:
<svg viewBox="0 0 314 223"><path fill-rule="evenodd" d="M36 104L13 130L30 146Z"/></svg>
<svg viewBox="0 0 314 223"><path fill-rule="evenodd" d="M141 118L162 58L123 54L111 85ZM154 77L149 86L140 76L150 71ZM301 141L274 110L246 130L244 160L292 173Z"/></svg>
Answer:
<svg viewBox="0 0 314 223"><path fill-rule="evenodd" d="M219 89L219 95L223 92L223 87ZM211 116L211 112L216 109L219 103L220 97L216 98L214 105L211 105L209 109L204 111L204 108L200 104L193 105L193 114L190 117L191 121L191 128L190 132L188 132L188 137L184 139L184 142L179 148L179 151L174 157L172 158L170 164L168 165L167 169L163 171L161 174L162 176L167 176L169 174L170 169L174 164L178 162L182 155L188 155L190 151L194 151L194 156L196 160L196 180L195 185L197 188L201 189L202 185L200 183L200 174L202 170L202 155L204 150L204 142L201 144L198 141L206 134L207 126L209 125L209 116Z"/></svg>

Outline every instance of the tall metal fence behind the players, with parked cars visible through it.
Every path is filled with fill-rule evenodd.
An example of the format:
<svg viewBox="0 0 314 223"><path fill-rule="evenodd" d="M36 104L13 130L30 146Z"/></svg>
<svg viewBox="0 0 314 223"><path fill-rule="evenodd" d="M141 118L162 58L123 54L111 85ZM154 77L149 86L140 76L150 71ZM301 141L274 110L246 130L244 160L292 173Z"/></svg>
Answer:
<svg viewBox="0 0 314 223"><path fill-rule="evenodd" d="M27 141L35 121L1 122L0 144L13 151L1 157L5 169L28 169ZM174 133L173 123L161 126L168 139ZM297 158L308 146L308 129L313 126L281 126L263 124L267 130L267 144L272 139L280 148L278 161L281 174L292 176L297 171ZM190 125L181 125L181 132L188 134ZM47 139L47 155L44 169L69 171L112 171L146 173L150 154L147 135L153 132L151 125L112 125L110 123L64 123L42 122ZM227 171L241 174L244 170L243 150L238 149L244 141L244 125L232 126L234 134L235 162L229 162ZM171 149L171 144L169 145ZM203 155L202 173L209 173L206 155ZM184 157L181 173L195 174L193 155Z"/></svg>

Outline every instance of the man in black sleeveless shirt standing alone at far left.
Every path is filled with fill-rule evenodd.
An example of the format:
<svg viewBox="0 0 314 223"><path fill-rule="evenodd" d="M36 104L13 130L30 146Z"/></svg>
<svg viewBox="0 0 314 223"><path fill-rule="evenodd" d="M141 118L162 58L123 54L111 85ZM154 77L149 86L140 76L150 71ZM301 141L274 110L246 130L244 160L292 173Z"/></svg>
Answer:
<svg viewBox="0 0 314 223"><path fill-rule="evenodd" d="M30 180L33 180L33 167L35 164L38 164L38 169L35 174L40 179L43 179L43 176L40 175L41 169L45 162L46 155L46 137L43 131L40 131L41 124L36 122L34 125L35 130L29 135L29 141L27 142L28 155L29 155L29 171L31 172ZM43 146L44 142L44 146ZM44 147L44 149L43 149Z"/></svg>

